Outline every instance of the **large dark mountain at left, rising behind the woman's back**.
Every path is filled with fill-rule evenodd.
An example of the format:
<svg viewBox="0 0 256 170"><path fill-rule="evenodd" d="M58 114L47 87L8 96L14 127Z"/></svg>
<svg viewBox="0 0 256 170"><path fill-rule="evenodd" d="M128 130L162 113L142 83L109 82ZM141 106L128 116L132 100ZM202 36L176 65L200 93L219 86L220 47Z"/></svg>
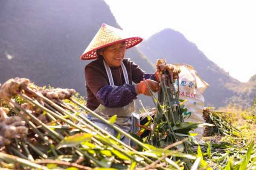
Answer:
<svg viewBox="0 0 256 170"><path fill-rule="evenodd" d="M91 61L79 57L102 23L121 28L103 0L2 0L0 83L26 77L40 86L74 88L85 96L84 66ZM154 71L136 47L126 57Z"/></svg>

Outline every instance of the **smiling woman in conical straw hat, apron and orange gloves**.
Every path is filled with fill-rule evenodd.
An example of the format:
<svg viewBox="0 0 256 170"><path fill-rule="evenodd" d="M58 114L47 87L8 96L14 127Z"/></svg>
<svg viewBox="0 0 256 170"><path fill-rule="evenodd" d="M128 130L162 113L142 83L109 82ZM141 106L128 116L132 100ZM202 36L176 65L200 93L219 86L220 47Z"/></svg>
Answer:
<svg viewBox="0 0 256 170"><path fill-rule="evenodd" d="M86 65L84 69L87 107L97 114L109 119L117 115L115 125L127 133L137 133L140 119L136 111L134 100L137 95L150 96L151 91L159 89L155 74L145 73L130 59L125 59L125 51L140 43L140 37L131 37L122 30L103 24L82 56L83 60L96 59ZM135 84L133 85L132 82ZM107 130L113 136L116 130L90 116L99 127ZM128 145L130 139L121 136L121 140Z"/></svg>

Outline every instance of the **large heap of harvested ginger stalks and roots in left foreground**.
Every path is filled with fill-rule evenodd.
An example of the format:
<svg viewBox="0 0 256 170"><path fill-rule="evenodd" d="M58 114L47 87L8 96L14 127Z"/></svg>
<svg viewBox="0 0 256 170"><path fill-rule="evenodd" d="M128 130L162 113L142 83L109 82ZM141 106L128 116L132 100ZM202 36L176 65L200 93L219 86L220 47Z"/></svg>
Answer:
<svg viewBox="0 0 256 170"><path fill-rule="evenodd" d="M15 78L3 84L0 89L0 98L15 111L17 116L8 117L2 112L3 109L1 110L0 135L10 137L6 130L13 130L14 127L17 132L13 132L15 135L0 145L4 145L0 148L0 166L7 167L9 164L6 163L18 162L20 167L13 164L14 167L11 168L47 169L44 165L49 163L54 164L57 169L76 167L88 170L91 167L112 167L176 170L183 167L183 162L173 161L172 156L195 159L194 156L179 153L177 150L156 148L140 142L116 127L113 124L114 116L106 120L71 98L74 93L75 91L67 89L43 91L28 79ZM20 105L13 99L15 95L23 98L23 104ZM136 142L141 147L141 151L124 144L86 117L80 116L61 99L67 99L75 107L98 116L119 133ZM47 122L41 119L41 115L47 116ZM81 125L76 125L76 122L80 122ZM20 128L23 130L20 131Z"/></svg>

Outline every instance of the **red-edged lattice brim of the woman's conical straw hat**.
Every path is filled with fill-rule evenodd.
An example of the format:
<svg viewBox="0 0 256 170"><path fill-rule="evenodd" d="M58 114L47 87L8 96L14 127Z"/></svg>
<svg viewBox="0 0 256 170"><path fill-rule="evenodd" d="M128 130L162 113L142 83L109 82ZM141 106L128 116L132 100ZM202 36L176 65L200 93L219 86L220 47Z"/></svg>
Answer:
<svg viewBox="0 0 256 170"><path fill-rule="evenodd" d="M80 56L80 59L82 59L82 60L96 59L96 58L98 58L96 50L98 50L100 48L103 48L103 47L106 47L106 46L109 46L109 45L116 44L118 42L123 42L123 41L125 41L125 48L129 49L129 48L139 44L140 42L142 42L143 38L141 38L141 37L130 37L130 38L125 38L125 39L122 39L122 40L110 42L108 44L105 44L105 45L102 45L100 47L94 48L93 50L84 52L84 54L82 54Z"/></svg>

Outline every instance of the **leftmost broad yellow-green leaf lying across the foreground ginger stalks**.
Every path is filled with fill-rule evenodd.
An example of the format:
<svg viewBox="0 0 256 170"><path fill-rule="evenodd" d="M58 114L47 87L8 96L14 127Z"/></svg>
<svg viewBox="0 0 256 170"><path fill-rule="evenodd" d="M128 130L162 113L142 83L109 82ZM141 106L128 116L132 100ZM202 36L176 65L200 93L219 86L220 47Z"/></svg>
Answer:
<svg viewBox="0 0 256 170"><path fill-rule="evenodd" d="M77 133L73 136L67 136L58 144L56 149L60 149L62 147L75 147L81 142L90 140L92 137L93 135L90 133Z"/></svg>

